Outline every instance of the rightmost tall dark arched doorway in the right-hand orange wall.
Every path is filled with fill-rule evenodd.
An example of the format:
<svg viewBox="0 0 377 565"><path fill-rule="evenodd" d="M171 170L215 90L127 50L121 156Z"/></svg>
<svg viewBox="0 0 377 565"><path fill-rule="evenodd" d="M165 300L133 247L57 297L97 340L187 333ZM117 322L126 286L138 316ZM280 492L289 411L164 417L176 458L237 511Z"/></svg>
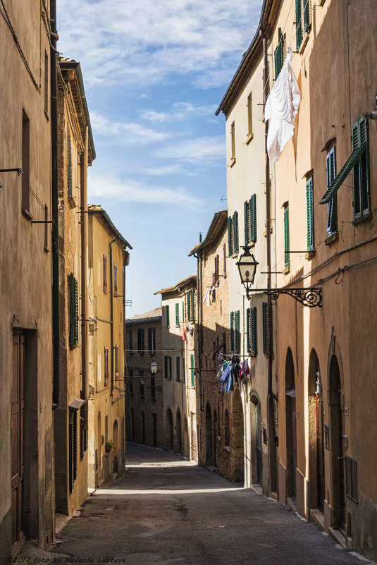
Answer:
<svg viewBox="0 0 377 565"><path fill-rule="evenodd" d="M330 442L333 482L333 527L345 531L345 452L343 447L342 383L338 359L330 359Z"/></svg>

